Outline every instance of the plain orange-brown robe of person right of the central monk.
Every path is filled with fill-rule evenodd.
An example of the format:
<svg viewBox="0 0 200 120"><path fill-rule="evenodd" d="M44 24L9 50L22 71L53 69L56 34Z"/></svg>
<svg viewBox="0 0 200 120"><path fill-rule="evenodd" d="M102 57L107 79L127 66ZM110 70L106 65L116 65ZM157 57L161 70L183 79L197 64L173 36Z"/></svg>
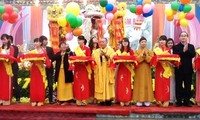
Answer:
<svg viewBox="0 0 200 120"><path fill-rule="evenodd" d="M135 56L139 66L135 69L133 99L138 102L151 102L154 99L150 68L153 52L148 50L146 58L143 58L142 49L139 48L135 51Z"/></svg>

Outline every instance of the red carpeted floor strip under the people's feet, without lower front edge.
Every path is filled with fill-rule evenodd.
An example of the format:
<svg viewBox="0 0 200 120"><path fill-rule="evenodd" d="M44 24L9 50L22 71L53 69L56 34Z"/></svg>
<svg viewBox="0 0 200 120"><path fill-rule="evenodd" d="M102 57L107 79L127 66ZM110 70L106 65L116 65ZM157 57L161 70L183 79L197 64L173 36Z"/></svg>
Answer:
<svg viewBox="0 0 200 120"><path fill-rule="evenodd" d="M167 108L151 105L150 107L136 107L135 105L122 107L118 104L112 106L99 106L99 105L87 105L77 106L75 104L58 105L58 104L45 104L41 107L32 107L31 104L11 104L9 106L0 106L1 112L53 112L53 113L75 113L75 114L110 114L110 115L125 115L128 116L131 113L137 114L154 114L154 113L190 113L200 114L199 106L192 107L175 107L169 106Z"/></svg>

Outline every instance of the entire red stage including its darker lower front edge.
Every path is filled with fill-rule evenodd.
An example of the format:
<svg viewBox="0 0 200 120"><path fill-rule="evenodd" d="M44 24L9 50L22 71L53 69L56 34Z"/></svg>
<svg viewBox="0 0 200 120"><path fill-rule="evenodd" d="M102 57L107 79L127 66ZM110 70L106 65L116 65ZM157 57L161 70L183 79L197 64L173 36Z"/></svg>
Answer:
<svg viewBox="0 0 200 120"><path fill-rule="evenodd" d="M152 105L150 107L136 107L135 105L129 107L121 107L120 105L99 106L87 105L76 106L75 104L58 105L45 104L41 107L32 107L31 104L12 104L10 106L0 106L0 119L29 119L29 120L56 120L56 119L85 119L95 120L100 118L141 118L146 116L148 118L160 118L179 116L179 118L200 118L200 107L194 105L193 107L174 107L168 108L157 107Z"/></svg>

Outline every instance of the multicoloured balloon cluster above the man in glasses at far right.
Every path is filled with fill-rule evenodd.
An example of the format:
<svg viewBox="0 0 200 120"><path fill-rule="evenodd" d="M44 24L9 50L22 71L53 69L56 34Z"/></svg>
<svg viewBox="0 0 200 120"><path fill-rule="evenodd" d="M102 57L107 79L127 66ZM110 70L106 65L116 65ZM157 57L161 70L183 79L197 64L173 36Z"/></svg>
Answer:
<svg viewBox="0 0 200 120"><path fill-rule="evenodd" d="M165 9L168 21L173 21L175 26L188 26L188 20L194 18L194 13L190 12L192 6L189 4L191 0L180 0L171 3L171 8ZM178 14L177 14L178 13Z"/></svg>

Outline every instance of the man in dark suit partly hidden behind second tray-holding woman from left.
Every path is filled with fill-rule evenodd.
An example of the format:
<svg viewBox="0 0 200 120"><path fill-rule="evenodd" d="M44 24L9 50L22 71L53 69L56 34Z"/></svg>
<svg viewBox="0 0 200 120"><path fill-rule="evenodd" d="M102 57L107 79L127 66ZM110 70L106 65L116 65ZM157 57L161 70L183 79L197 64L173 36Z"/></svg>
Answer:
<svg viewBox="0 0 200 120"><path fill-rule="evenodd" d="M39 38L42 42L42 47L46 50L47 52L47 56L49 57L49 59L52 61L53 57L54 57L54 52L53 49L51 47L48 47L48 40L46 36L40 36ZM54 73L54 69L53 69L53 65L51 64L50 68L46 68L46 76L47 76L47 80L48 80L48 88L49 88L49 94L48 94L48 98L49 98L49 103L53 104L53 73Z"/></svg>

